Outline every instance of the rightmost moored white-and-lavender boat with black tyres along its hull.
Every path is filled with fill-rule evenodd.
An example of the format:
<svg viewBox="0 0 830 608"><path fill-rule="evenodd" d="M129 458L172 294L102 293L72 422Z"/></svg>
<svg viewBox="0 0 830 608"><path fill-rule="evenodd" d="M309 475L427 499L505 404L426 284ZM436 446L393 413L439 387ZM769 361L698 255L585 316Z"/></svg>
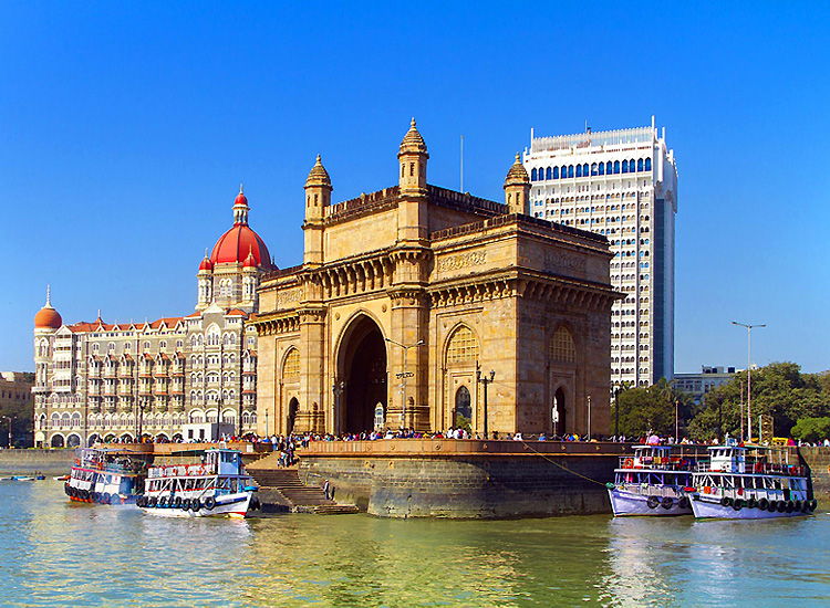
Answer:
<svg viewBox="0 0 830 608"><path fill-rule="evenodd" d="M709 464L693 475L692 510L698 518L769 520L816 511L808 471L786 449L743 445L734 439L709 448Z"/></svg>

